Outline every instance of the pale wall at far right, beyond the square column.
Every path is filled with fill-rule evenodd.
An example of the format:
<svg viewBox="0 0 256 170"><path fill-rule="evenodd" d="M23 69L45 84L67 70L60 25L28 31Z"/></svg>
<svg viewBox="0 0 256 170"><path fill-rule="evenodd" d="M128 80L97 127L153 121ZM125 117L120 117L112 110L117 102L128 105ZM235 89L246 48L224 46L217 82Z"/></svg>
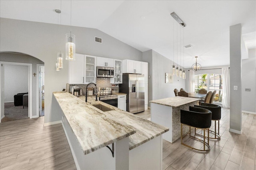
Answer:
<svg viewBox="0 0 256 170"><path fill-rule="evenodd" d="M256 49L249 49L248 59L242 60L242 111L256 112ZM245 91L251 89L251 91Z"/></svg>

